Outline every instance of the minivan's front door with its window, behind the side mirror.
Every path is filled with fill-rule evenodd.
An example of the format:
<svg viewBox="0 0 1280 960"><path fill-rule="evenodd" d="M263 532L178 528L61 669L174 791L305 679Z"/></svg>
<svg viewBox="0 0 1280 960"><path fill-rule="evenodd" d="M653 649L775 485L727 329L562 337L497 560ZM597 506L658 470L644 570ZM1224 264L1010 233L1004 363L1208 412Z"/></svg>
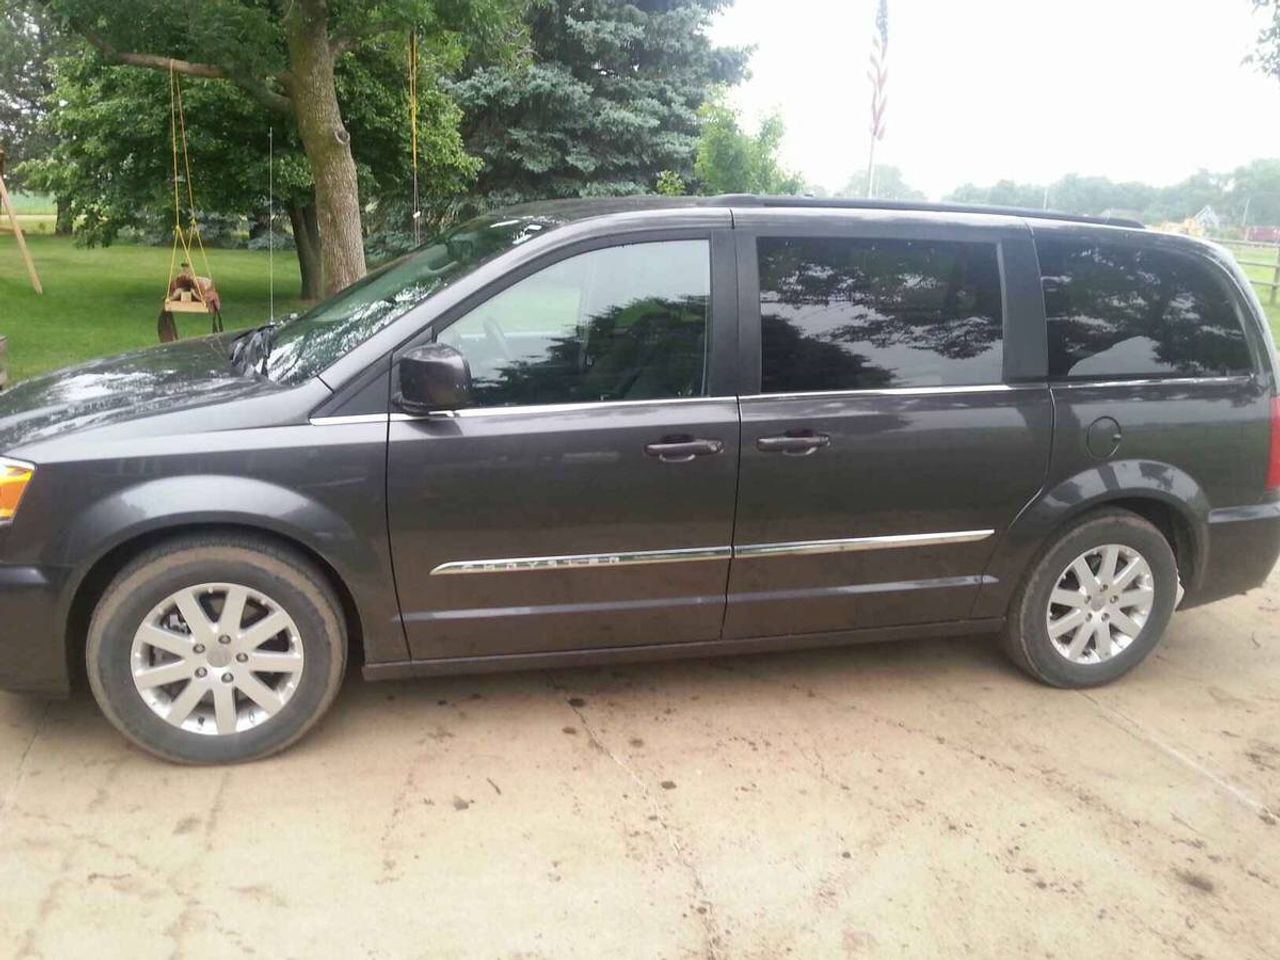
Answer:
<svg viewBox="0 0 1280 960"><path fill-rule="evenodd" d="M475 403L393 416L388 453L415 659L719 636L732 265L731 239L709 232L571 250L439 324Z"/></svg>

